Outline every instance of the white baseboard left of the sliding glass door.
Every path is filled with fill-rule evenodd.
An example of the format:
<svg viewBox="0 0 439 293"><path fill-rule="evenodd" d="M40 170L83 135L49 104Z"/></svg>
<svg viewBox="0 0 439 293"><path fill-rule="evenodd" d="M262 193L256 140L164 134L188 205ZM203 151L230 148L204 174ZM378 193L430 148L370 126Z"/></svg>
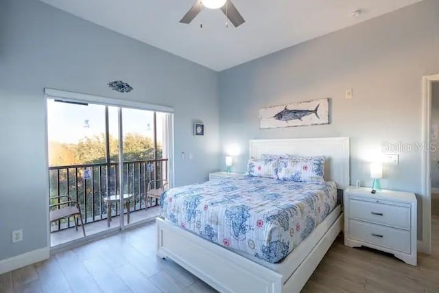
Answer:
<svg viewBox="0 0 439 293"><path fill-rule="evenodd" d="M28 253L23 253L22 255L16 255L15 257L10 257L9 259L2 259L0 260L0 274L10 272L11 270L16 270L17 268L23 268L23 266L28 266L29 264L36 263L38 261L43 261L48 259L49 256L50 248L45 247L29 251Z"/></svg>

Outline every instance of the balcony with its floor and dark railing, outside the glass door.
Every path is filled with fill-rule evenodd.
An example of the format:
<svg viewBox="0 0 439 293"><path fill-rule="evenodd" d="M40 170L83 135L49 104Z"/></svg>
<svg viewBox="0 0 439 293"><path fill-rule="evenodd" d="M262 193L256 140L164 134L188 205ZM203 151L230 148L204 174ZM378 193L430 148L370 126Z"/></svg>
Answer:
<svg viewBox="0 0 439 293"><path fill-rule="evenodd" d="M158 202L156 200L146 202L145 194L151 180L167 179L168 160L124 162L122 171L123 194L132 194L130 224L155 218L159 213ZM119 163L49 167L50 204L65 202L67 198L60 196L70 196L72 200L80 204L86 235L102 233L108 229L106 221L108 212L104 198L120 194L119 181ZM145 207L147 207L146 211ZM59 208L60 206L51 207L51 210ZM126 208L123 209L123 213L127 213ZM112 219L109 228L119 227L118 202L112 204L110 214ZM75 230L73 218L52 222L50 231L51 246L58 246L83 237L81 228L78 231Z"/></svg>

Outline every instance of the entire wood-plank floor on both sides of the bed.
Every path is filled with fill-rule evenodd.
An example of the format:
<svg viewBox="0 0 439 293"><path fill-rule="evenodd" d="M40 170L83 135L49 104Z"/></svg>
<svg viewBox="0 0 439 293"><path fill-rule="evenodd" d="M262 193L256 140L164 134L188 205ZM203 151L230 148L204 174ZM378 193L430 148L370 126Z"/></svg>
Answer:
<svg viewBox="0 0 439 293"><path fill-rule="evenodd" d="M433 255L418 267L338 237L302 292L439 293L439 200L433 204ZM173 261L155 256L155 226L145 224L0 275L0 292L216 292ZM247 293L247 292L245 292Z"/></svg>

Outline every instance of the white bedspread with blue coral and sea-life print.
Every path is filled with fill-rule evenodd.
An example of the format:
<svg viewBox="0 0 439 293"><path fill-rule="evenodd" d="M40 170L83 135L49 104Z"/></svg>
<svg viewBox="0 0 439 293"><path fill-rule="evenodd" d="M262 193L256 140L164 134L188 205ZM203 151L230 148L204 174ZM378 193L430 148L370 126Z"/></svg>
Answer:
<svg viewBox="0 0 439 293"><path fill-rule="evenodd" d="M211 242L276 263L337 204L333 182L297 183L240 176L166 191L167 220Z"/></svg>

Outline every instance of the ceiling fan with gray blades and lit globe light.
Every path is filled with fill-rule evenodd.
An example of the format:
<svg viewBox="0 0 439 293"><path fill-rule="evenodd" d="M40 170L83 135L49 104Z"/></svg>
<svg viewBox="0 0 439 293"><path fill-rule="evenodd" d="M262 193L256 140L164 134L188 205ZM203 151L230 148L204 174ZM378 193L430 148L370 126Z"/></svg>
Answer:
<svg viewBox="0 0 439 293"><path fill-rule="evenodd" d="M231 0L197 0L187 14L185 14L180 20L180 23L191 23L191 21L193 21L193 19L195 19L195 17L201 12L203 7L209 9L221 8L230 23L235 27L239 27L239 25L246 22Z"/></svg>

